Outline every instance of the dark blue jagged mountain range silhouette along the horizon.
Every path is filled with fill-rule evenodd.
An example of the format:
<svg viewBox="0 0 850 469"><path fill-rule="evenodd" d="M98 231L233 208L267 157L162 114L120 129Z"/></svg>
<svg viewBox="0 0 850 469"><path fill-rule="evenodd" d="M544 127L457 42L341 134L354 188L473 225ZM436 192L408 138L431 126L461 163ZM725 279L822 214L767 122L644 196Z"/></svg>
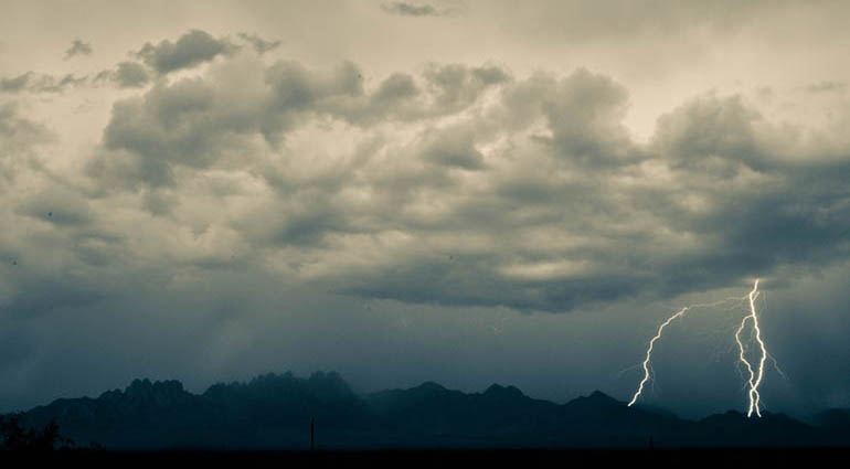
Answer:
<svg viewBox="0 0 850 469"><path fill-rule="evenodd" d="M264 374L202 394L178 381L135 380L96 398L63 398L17 414L28 426L55 420L82 446L114 449L629 448L850 446L850 411L814 425L782 414L727 412L687 420L628 407L602 392L555 404L493 384L481 393L425 382L357 394L337 373Z"/></svg>

